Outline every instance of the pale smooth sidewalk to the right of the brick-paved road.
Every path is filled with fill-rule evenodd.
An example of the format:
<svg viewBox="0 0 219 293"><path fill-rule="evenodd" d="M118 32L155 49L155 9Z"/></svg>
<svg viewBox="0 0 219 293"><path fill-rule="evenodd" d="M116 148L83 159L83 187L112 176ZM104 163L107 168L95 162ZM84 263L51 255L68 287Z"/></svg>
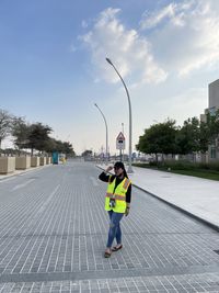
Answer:
<svg viewBox="0 0 219 293"><path fill-rule="evenodd" d="M103 169L104 166L97 166ZM219 181L132 167L132 185L219 230ZM134 199L138 194L132 194Z"/></svg>

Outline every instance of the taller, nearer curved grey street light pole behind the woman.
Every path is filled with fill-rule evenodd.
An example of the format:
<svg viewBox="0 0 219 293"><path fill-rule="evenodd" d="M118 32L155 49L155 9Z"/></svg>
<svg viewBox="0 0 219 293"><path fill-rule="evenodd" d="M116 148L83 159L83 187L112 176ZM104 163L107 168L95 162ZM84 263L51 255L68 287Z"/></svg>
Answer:
<svg viewBox="0 0 219 293"><path fill-rule="evenodd" d="M131 105L130 105L130 97L129 97L129 92L128 92L128 89L126 87L126 83L125 81L123 80L120 74L118 72L118 70L116 69L115 65L112 63L111 59L106 58L106 61L113 66L113 68L115 69L116 74L119 76L123 84L124 84L124 88L126 90L126 94L127 94L127 98L128 98L128 108L129 108L129 155L128 155L128 173L132 173L132 167L131 167L131 155L132 155L132 151L131 151L131 128L132 128L132 123L131 123Z"/></svg>

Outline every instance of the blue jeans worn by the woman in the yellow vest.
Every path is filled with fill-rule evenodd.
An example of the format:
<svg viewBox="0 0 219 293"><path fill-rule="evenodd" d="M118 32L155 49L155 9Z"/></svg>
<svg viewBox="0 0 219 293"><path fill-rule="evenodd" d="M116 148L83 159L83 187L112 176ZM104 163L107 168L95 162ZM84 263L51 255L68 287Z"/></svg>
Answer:
<svg viewBox="0 0 219 293"><path fill-rule="evenodd" d="M114 238L116 238L117 244L122 243L122 230L120 230L120 225L119 222L124 214L122 213L115 213L113 211L108 211L110 215L110 229L108 229L108 240L107 240L107 248L111 248L113 245Z"/></svg>

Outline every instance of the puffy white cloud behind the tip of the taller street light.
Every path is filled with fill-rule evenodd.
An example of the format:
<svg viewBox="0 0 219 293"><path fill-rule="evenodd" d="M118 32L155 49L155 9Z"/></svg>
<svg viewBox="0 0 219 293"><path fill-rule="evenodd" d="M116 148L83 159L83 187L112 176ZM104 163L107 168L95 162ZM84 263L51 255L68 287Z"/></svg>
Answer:
<svg viewBox="0 0 219 293"><path fill-rule="evenodd" d="M131 76L135 84L165 80L168 75L154 60L150 43L136 30L126 29L118 19L119 12L119 9L104 10L92 30L80 36L91 49L99 75L111 82L118 81L116 72L105 61L105 57L110 57L119 74Z"/></svg>

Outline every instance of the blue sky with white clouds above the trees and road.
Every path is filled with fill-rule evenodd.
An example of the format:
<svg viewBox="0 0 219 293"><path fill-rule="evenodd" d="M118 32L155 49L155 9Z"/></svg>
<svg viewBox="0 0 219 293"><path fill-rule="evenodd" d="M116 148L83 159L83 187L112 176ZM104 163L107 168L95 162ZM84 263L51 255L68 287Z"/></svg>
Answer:
<svg viewBox="0 0 219 293"><path fill-rule="evenodd" d="M112 155L208 108L219 78L218 0L0 0L0 109L53 128L80 155ZM124 125L124 126L123 126ZM10 140L2 143L8 147Z"/></svg>

